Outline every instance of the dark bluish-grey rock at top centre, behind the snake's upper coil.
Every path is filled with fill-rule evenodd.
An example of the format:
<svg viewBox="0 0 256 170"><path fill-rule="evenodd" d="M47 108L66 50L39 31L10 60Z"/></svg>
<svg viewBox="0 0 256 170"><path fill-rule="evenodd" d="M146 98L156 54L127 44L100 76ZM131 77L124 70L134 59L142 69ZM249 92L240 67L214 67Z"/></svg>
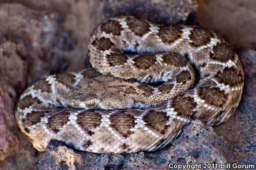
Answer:
<svg viewBox="0 0 256 170"><path fill-rule="evenodd" d="M133 15L151 22L170 24L169 0L106 0L106 18ZM197 4L192 0L172 0L173 25L184 24L189 14L196 11Z"/></svg>

